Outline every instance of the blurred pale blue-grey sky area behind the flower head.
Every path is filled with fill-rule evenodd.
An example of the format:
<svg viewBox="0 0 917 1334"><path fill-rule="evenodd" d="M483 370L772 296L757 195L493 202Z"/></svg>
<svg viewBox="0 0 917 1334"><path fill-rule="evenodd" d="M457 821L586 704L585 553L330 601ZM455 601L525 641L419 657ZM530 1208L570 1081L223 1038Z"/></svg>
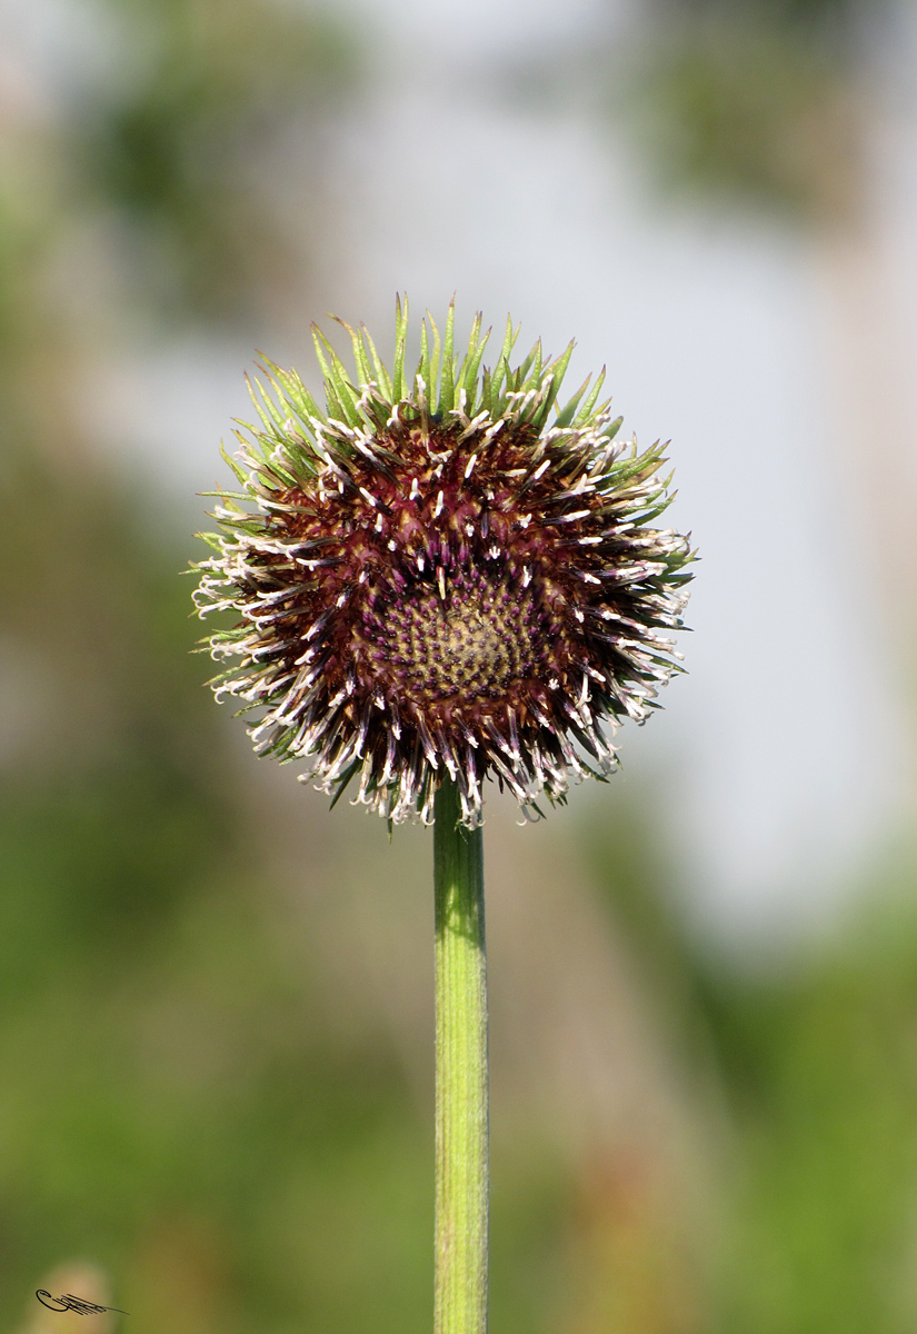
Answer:
<svg viewBox="0 0 917 1334"><path fill-rule="evenodd" d="M75 59L104 59L91 40L83 52L63 0L0 12L4 65L24 85L24 69L51 71L53 85ZM502 87L506 64L586 52L637 23L638 7L351 0L351 12L373 79L327 144L336 235L311 279L315 305L265 351L308 379L308 324L327 309L367 320L385 346L396 291L419 319L427 305L443 315L455 289L465 324L480 307L497 328L512 311L522 342L540 335L554 352L574 336L572 380L608 366L625 431L672 439L673 520L702 556L689 675L664 716L622 731L624 780L662 779L685 883L710 920L780 930L818 916L912 788L894 626L838 446L844 430L874 431L882 448L888 395L866 370L861 384L844 375L822 256L788 225L665 201L620 120L586 113L576 77L545 99ZM866 342L885 340L901 367L917 360L914 31L905 16L894 43L877 41L888 77L872 225L885 295L864 312ZM885 320L898 321L892 338ZM137 342L99 368L87 412L103 447L177 499L219 476L216 443L247 415L251 360L235 343ZM917 376L896 384L890 430L908 431ZM913 435L910 447L917 475Z"/></svg>

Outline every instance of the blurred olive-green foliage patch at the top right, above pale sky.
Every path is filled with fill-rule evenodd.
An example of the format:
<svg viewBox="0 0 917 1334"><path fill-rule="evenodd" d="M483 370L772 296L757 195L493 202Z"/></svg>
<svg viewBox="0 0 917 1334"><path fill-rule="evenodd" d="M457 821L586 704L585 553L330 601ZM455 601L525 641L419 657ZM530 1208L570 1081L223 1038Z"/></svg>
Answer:
<svg viewBox="0 0 917 1334"><path fill-rule="evenodd" d="M878 0L654 0L640 89L666 179L816 224L860 204L864 20Z"/></svg>

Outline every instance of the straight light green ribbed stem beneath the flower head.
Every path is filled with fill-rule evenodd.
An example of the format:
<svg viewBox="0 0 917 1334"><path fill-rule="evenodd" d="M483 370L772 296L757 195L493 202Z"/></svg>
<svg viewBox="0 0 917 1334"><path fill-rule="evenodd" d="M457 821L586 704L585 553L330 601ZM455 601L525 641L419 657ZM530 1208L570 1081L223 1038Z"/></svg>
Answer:
<svg viewBox="0 0 917 1334"><path fill-rule="evenodd" d="M488 1039L481 830L436 794L436 1334L485 1334Z"/></svg>

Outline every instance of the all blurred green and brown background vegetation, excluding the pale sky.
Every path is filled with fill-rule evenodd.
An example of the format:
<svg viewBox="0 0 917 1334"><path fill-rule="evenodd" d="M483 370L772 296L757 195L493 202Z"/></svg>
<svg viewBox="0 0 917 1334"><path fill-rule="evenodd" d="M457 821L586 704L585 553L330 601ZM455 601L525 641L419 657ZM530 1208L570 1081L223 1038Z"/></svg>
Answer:
<svg viewBox="0 0 917 1334"><path fill-rule="evenodd" d="M251 762L191 655L193 511L84 410L125 339L287 346L320 313L336 127L385 11L65 8L68 59L39 92L5 68L0 107L0 1327L39 1329L33 1290L87 1262L133 1334L425 1330L429 836L389 847ZM856 245L880 21L646 0L582 115L618 119L665 207ZM796 948L730 954L685 911L653 784L550 828L493 806L492 1327L917 1330L908 831Z"/></svg>

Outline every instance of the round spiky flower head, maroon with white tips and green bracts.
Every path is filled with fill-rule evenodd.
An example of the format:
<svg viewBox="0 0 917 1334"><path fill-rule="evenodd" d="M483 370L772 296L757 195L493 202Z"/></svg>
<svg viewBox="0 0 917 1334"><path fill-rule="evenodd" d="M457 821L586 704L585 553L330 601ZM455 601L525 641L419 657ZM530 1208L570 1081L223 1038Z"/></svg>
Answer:
<svg viewBox="0 0 917 1334"><path fill-rule="evenodd" d="M391 375L365 327L344 325L353 379L313 329L324 412L265 362L196 599L237 618L208 640L212 684L256 711L259 754L335 799L359 775L395 823L429 820L448 774L474 826L488 776L530 814L612 771L609 732L677 670L692 552L652 526L662 447L616 440L604 371L558 408L572 343L513 366L509 320L488 370L480 315L461 363L452 305L443 343L428 319L413 379L407 301Z"/></svg>

